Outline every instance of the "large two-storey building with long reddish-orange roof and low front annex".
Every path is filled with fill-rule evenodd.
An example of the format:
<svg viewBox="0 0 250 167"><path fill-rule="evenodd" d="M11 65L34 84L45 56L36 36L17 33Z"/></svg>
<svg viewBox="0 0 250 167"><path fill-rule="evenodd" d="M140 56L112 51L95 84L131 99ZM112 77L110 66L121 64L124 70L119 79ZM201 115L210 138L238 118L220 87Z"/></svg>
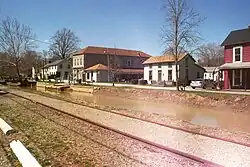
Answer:
<svg viewBox="0 0 250 167"><path fill-rule="evenodd" d="M112 82L142 78L142 62L149 57L137 50L88 46L73 54L73 80Z"/></svg>

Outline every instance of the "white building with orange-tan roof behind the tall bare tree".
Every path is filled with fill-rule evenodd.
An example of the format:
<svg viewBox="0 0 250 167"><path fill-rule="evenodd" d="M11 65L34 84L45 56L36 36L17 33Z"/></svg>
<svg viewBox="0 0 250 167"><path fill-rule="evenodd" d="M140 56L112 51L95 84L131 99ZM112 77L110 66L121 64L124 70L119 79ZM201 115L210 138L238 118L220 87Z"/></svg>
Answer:
<svg viewBox="0 0 250 167"><path fill-rule="evenodd" d="M155 82L176 82L176 68L174 56L153 56L147 59L144 64L144 79L148 83ZM183 54L178 59L178 70L180 81L191 81L202 78L204 68L199 66L190 54Z"/></svg>

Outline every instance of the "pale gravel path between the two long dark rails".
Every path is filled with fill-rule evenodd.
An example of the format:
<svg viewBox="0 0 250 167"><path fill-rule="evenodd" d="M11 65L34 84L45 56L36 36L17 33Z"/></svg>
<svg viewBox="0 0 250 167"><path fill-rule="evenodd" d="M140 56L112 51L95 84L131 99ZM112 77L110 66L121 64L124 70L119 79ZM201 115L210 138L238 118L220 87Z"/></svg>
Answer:
<svg viewBox="0 0 250 167"><path fill-rule="evenodd" d="M37 94L10 90L11 93L63 110L72 115L117 129L148 142L179 150L222 166L250 166L250 148L205 136L174 130L164 126L72 104Z"/></svg>

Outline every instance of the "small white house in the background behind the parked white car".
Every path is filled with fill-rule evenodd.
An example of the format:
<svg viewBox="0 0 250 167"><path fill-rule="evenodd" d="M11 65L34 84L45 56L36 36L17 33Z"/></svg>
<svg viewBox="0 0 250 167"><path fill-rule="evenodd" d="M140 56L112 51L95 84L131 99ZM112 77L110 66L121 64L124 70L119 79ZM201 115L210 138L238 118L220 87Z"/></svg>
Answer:
<svg viewBox="0 0 250 167"><path fill-rule="evenodd" d="M204 67L204 69L206 70L206 72L204 73L204 79L207 80L213 80L213 81L218 81L220 80L224 80L224 74L220 73L220 70L218 67ZM221 77L220 77L221 75Z"/></svg>

